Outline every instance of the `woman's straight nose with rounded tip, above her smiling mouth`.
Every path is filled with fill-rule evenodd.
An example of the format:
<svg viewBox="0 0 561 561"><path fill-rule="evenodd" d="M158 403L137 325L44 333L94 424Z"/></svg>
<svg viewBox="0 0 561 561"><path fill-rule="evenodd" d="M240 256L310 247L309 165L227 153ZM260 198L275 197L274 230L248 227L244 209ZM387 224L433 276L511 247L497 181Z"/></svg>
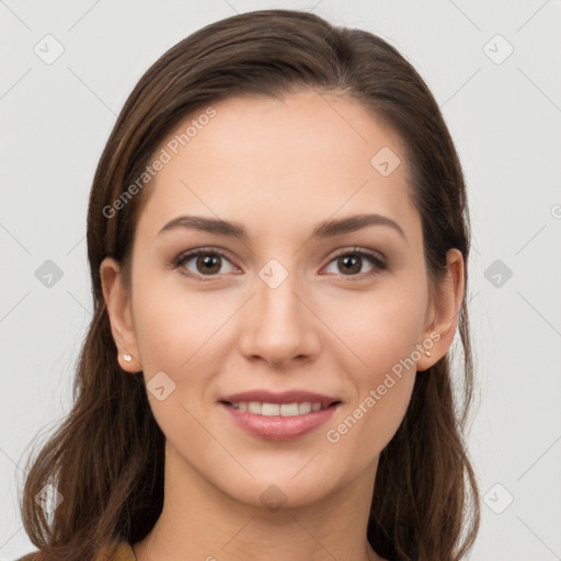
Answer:
<svg viewBox="0 0 561 561"><path fill-rule="evenodd" d="M305 294L296 275L289 274L276 287L261 277L255 279L255 294L244 306L240 325L240 348L249 360L264 360L278 369L317 356L320 347L317 330L321 322Z"/></svg>

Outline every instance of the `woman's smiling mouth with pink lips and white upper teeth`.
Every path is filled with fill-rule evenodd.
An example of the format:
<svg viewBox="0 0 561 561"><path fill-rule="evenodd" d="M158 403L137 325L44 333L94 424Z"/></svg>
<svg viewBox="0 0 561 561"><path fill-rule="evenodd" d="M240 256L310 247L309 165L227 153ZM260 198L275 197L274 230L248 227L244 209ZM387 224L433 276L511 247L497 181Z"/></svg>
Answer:
<svg viewBox="0 0 561 561"><path fill-rule="evenodd" d="M325 423L342 401L311 392L253 391L218 403L245 433L268 440L290 440Z"/></svg>

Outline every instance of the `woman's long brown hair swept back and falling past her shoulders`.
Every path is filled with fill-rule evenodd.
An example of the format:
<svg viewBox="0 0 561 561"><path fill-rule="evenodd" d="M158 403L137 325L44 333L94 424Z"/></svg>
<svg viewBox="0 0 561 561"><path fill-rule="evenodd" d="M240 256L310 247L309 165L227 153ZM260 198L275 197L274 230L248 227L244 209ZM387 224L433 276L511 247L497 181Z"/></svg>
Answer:
<svg viewBox="0 0 561 561"><path fill-rule="evenodd" d="M144 192L118 209L114 202L188 115L231 95L283 95L297 88L342 90L400 136L431 282L443 277L450 248L467 263L470 228L459 158L427 85L396 48L371 33L291 10L243 13L181 41L130 93L93 180L88 256L94 312L79 357L75 405L27 460L21 499L37 559L89 561L119 540L134 543L163 506L164 435L141 376L117 363L100 278L105 256L129 271ZM478 484L465 440L474 388L466 294L458 323L461 400L453 391L447 355L416 376L407 414L380 456L368 540L391 560L460 560L479 529ZM64 497L50 520L35 501L48 483Z"/></svg>

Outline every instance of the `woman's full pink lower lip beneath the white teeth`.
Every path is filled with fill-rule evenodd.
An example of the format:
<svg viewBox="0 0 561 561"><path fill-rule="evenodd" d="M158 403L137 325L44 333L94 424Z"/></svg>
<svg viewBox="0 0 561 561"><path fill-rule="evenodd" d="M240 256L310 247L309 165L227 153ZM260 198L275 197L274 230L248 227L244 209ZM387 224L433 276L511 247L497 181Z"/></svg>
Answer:
<svg viewBox="0 0 561 561"><path fill-rule="evenodd" d="M238 426L253 436L266 438L267 440L291 440L325 423L331 419L339 403L328 409L295 416L256 415L248 411L240 411L226 403L220 403L220 405L228 411Z"/></svg>

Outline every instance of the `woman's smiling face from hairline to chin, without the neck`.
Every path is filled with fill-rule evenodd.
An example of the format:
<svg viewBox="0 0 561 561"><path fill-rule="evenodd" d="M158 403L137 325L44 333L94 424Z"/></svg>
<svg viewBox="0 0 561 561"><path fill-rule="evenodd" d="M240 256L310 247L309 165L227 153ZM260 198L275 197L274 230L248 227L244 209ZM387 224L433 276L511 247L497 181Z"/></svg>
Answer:
<svg viewBox="0 0 561 561"><path fill-rule="evenodd" d="M137 195L116 339L178 478L307 504L374 481L416 369L438 358L421 218L399 138L356 101L302 91L213 108L169 136Z"/></svg>

